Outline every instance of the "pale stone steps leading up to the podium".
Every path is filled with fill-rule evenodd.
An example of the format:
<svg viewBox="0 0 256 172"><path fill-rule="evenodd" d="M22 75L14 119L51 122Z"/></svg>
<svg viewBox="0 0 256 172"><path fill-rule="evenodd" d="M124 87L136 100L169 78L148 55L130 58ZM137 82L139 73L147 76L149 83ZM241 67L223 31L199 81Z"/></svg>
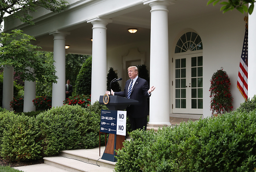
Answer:
<svg viewBox="0 0 256 172"><path fill-rule="evenodd" d="M105 147L61 151L60 156L44 157L43 164L15 167L23 172L113 172L116 163L100 159ZM100 154L99 154L100 151Z"/></svg>

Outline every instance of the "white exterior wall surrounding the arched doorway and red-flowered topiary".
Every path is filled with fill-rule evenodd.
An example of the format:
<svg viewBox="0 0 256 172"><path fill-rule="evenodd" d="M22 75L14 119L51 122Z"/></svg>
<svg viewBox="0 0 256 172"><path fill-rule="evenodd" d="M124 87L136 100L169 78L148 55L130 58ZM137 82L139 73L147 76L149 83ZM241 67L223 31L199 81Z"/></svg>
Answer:
<svg viewBox="0 0 256 172"><path fill-rule="evenodd" d="M203 117L211 116L209 87L212 74L223 67L231 80L234 109L244 102L237 89L240 55L245 33L244 14L238 11L201 16L169 25L169 57L177 39L187 30L196 31L203 42ZM169 65L171 68L171 64ZM170 80L171 78L170 70ZM171 89L171 88L170 88ZM170 99L171 100L171 99ZM171 102L172 104L172 102ZM171 113L170 108L170 113Z"/></svg>

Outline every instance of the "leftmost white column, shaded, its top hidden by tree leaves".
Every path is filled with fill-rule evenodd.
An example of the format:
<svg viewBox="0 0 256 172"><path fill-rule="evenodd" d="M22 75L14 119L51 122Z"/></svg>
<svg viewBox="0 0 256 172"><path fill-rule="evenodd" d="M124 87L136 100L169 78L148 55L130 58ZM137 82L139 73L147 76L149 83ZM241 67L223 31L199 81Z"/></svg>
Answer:
<svg viewBox="0 0 256 172"><path fill-rule="evenodd" d="M3 105L8 111L13 111L10 101L13 99L13 67L4 66L3 68Z"/></svg>

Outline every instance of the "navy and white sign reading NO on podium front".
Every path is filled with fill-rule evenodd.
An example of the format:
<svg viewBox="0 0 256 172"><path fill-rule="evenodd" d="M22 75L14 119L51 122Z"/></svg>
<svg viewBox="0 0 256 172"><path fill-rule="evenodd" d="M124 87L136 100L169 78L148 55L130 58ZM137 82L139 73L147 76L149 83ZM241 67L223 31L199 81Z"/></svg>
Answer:
<svg viewBox="0 0 256 172"><path fill-rule="evenodd" d="M100 131L126 135L126 111L101 110Z"/></svg>

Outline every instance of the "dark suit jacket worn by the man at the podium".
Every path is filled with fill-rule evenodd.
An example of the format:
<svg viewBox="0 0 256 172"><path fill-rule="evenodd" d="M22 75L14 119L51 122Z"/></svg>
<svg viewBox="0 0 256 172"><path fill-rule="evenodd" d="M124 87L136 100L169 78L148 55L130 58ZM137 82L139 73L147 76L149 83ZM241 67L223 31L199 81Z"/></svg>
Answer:
<svg viewBox="0 0 256 172"><path fill-rule="evenodd" d="M119 95L121 97L128 96L128 86L131 82L131 79L127 80L125 83L125 89L123 92L115 92L115 95ZM134 83L134 86L131 90L131 99L139 101L139 104L131 104L126 108L127 115L133 118L140 118L145 117L149 114L148 110L148 104L147 104L147 98L150 97L148 94L148 83L146 80L138 77L136 82Z"/></svg>

